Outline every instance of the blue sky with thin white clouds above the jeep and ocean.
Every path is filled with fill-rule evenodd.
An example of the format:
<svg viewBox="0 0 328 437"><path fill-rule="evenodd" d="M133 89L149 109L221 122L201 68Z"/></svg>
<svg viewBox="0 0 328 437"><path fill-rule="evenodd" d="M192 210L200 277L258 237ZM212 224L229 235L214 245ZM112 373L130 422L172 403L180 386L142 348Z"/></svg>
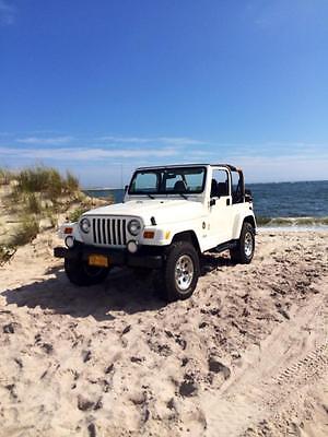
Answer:
<svg viewBox="0 0 328 437"><path fill-rule="evenodd" d="M326 0L0 0L0 166L328 175Z"/></svg>

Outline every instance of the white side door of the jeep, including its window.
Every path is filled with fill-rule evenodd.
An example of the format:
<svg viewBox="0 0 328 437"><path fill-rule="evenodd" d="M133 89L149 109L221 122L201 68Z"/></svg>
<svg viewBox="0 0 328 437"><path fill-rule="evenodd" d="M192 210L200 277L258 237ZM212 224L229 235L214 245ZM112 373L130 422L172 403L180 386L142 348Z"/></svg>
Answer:
<svg viewBox="0 0 328 437"><path fill-rule="evenodd" d="M232 238L232 197L227 169L213 167L210 192L210 229L212 247Z"/></svg>

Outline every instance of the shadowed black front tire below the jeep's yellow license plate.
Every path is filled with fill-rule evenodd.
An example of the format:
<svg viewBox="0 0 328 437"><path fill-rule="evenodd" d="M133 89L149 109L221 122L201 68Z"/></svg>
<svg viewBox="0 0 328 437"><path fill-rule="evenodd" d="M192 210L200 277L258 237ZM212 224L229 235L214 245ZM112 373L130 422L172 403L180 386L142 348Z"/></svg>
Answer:
<svg viewBox="0 0 328 437"><path fill-rule="evenodd" d="M109 272L109 269L89 265L87 262L75 259L65 259L65 272L74 285L89 286L101 284Z"/></svg>

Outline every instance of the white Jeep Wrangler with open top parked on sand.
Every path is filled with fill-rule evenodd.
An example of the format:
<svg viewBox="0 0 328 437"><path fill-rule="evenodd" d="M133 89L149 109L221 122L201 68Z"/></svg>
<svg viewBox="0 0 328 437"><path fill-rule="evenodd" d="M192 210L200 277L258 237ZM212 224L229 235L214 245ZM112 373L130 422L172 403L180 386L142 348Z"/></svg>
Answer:
<svg viewBox="0 0 328 437"><path fill-rule="evenodd" d="M189 297L200 274L201 253L229 249L249 263L256 221L243 172L232 165L189 164L138 168L122 203L84 213L65 224L65 270L77 285L105 280L114 265L141 275L156 270L156 287L171 302Z"/></svg>

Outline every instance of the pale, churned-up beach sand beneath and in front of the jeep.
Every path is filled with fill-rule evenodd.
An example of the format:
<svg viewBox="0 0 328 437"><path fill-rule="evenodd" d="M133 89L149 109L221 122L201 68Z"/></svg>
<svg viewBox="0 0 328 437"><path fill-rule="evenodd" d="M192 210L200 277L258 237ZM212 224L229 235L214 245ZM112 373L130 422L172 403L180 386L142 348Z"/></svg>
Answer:
<svg viewBox="0 0 328 437"><path fill-rule="evenodd" d="M77 288L39 236L0 271L0 436L328 435L328 233L206 257L165 306L114 272Z"/></svg>

